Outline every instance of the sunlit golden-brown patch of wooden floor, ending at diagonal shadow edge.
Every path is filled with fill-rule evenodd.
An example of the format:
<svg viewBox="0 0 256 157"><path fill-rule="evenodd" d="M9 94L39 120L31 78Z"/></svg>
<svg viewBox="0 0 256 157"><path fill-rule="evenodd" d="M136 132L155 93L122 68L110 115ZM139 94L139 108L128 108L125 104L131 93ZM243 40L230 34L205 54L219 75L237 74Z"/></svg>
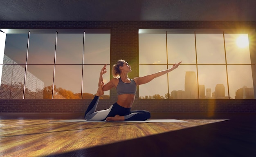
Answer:
<svg viewBox="0 0 256 157"><path fill-rule="evenodd" d="M226 119L184 119L188 122L111 123L49 122L45 119L0 120L1 156L45 156L112 144Z"/></svg>

